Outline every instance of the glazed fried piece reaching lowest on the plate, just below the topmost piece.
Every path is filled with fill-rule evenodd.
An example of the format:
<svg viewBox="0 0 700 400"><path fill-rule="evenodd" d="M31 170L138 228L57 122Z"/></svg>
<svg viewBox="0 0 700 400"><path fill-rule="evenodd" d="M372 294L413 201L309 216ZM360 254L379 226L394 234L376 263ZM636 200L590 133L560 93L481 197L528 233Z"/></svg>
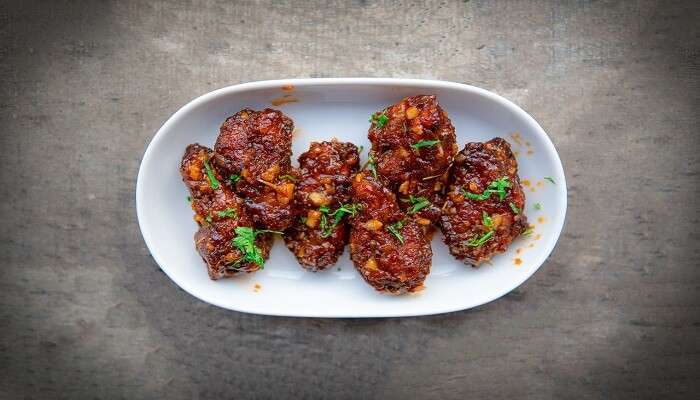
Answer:
<svg viewBox="0 0 700 400"><path fill-rule="evenodd" d="M350 233L350 258L360 275L381 292L421 290L432 257L423 228L401 211L396 196L366 171L355 175L352 196L362 205L352 219ZM389 231L399 221L403 221L397 230L403 243Z"/></svg>

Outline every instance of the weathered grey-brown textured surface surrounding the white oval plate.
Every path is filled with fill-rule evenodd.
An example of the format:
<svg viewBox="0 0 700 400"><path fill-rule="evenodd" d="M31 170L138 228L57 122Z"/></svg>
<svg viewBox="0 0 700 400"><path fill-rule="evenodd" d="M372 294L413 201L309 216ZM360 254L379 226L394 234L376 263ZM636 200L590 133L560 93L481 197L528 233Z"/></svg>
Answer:
<svg viewBox="0 0 700 400"><path fill-rule="evenodd" d="M682 398L700 389L697 1L2 2L0 397ZM282 77L466 82L523 106L565 231L505 298L424 318L244 315L138 231L165 119Z"/></svg>

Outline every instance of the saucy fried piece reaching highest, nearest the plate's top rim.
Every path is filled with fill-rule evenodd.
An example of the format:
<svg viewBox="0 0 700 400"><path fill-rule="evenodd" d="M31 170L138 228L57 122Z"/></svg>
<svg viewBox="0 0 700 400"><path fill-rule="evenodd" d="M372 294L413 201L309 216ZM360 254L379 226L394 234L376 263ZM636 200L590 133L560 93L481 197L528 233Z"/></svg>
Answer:
<svg viewBox="0 0 700 400"><path fill-rule="evenodd" d="M382 123L384 115L388 119ZM372 119L370 155L377 173L391 190L398 192L404 210L413 206L410 196L430 201L417 213L424 221L418 221L437 224L448 170L459 150L447 113L434 95L419 95L406 97L375 113Z"/></svg>

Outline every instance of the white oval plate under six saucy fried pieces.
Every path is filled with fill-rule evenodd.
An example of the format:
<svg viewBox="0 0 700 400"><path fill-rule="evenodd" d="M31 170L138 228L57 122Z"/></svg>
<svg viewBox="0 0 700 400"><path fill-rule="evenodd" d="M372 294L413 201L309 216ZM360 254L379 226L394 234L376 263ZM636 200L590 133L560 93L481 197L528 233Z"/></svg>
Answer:
<svg viewBox="0 0 700 400"><path fill-rule="evenodd" d="M440 232L433 238L433 266L425 290L404 296L380 294L355 271L348 249L329 270L303 270L278 237L265 269L212 281L197 254L197 226L186 200L179 164L194 142L212 147L220 124L244 107L282 110L294 120L293 163L311 141L337 137L369 148L368 118L405 96L435 94L448 112L460 148L495 136L517 152L525 186L526 214L534 233L480 268L449 254ZM273 105L273 104L276 104ZM367 156L364 151L363 162ZM544 180L551 177L556 184ZM540 203L541 210L534 204ZM549 256L564 225L566 182L547 134L525 111L473 86L413 79L290 79L252 82L215 90L192 100L158 130L146 149L136 184L141 233L158 265L192 295L231 310L298 317L398 317L475 307L510 292Z"/></svg>

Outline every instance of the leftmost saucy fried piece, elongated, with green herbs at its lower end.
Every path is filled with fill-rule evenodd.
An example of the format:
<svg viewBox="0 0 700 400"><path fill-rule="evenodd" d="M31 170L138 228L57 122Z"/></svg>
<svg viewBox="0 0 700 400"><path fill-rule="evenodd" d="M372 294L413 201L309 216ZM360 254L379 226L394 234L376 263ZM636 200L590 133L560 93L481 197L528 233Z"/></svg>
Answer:
<svg viewBox="0 0 700 400"><path fill-rule="evenodd" d="M235 229L253 226L253 219L243 205L243 201L223 184L222 176L210 162L211 149L199 144L187 146L180 164L180 175L190 191L194 219L199 230L194 235L195 246L207 264L211 279L233 276L238 272L253 272L260 269L255 263L236 263L242 254L231 246ZM214 188L207 176L205 162L219 182ZM256 245L263 258L267 259L271 247L270 235L259 235Z"/></svg>

